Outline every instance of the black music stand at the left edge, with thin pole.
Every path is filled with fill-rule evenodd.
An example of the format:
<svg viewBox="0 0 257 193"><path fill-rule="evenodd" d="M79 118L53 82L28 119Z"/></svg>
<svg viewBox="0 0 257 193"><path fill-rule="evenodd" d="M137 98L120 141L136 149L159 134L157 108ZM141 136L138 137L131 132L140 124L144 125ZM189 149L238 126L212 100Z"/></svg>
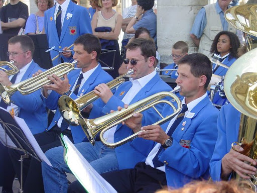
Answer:
<svg viewBox="0 0 257 193"><path fill-rule="evenodd" d="M21 181L20 192L23 192L23 160L29 156L41 161L33 146L27 139L21 127L16 123L12 116L0 108L0 142L3 145L24 152L19 161L21 161Z"/></svg>

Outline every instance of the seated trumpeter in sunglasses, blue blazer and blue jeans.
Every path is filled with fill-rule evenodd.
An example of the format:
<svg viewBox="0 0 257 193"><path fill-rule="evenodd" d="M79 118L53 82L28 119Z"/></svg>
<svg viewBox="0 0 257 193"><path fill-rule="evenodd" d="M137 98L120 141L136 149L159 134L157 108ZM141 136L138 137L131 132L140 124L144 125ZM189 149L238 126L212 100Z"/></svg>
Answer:
<svg viewBox="0 0 257 193"><path fill-rule="evenodd" d="M101 100L95 101L91 106L89 118L96 118L111 110L117 109L124 104L133 104L160 91L170 91L171 87L166 84L154 69L156 48L151 39L135 39L127 46L126 59L128 68L134 70L133 78L120 85L112 94L106 84L99 84L95 87L95 93ZM163 105L156 108L161 111ZM159 115L151 108L143 113L143 124L149 125L158 121ZM104 134L107 142L117 142L120 139L132 135L130 128L119 124ZM111 170L133 168L135 164L145 159L151 151L154 142L140 138L131 143L125 143L115 149L110 149L96 141L95 146L89 142L75 144L80 153L90 162L98 173ZM68 181L65 172L70 172L63 159L63 147L53 148L46 152L46 156L53 167L42 163L45 192L66 192ZM60 166L60 167L59 167Z"/></svg>

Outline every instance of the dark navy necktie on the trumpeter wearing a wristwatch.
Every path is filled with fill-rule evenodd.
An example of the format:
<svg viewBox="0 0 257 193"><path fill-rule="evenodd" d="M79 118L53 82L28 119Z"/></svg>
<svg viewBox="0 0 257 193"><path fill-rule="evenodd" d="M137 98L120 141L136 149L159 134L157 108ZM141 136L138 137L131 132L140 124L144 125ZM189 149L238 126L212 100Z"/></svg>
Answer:
<svg viewBox="0 0 257 193"><path fill-rule="evenodd" d="M178 125L181 123L181 121L184 119L185 116L185 112L187 111L187 105L182 105L182 110L179 113L179 115L177 116L176 120L174 121L174 123L172 124L170 130L168 131L167 135L172 136L173 132L175 131L175 129L178 127ZM164 163L159 161L158 156L164 151L163 146L160 147L159 151L157 152L157 154L155 155L154 159L153 159L153 164L155 166L155 168L157 167L161 167Z"/></svg>

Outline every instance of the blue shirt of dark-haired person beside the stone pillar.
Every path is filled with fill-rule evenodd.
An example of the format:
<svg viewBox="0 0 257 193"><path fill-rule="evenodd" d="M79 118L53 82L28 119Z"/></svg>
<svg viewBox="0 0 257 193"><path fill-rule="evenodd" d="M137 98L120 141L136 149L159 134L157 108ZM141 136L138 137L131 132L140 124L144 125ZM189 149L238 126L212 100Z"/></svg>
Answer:
<svg viewBox="0 0 257 193"><path fill-rule="evenodd" d="M141 20L139 20L133 28L135 30L139 29L140 27L146 28L150 32L150 36L155 40L157 40L156 37L156 31L157 31L157 17L154 13L154 10L148 10L145 14L143 14Z"/></svg>

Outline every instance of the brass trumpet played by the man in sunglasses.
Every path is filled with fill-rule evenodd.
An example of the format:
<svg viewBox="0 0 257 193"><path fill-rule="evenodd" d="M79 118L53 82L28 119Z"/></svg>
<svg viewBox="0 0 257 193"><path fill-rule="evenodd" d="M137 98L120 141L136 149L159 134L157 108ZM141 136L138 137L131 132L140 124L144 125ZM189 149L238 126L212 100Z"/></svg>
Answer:
<svg viewBox="0 0 257 193"><path fill-rule="evenodd" d="M134 70L130 69L126 73L108 82L107 86L112 90L125 81L123 77L133 73ZM81 111L98 98L99 96L95 94L93 90L76 100L63 95L58 101L58 107L63 119L65 119L70 125L77 126L79 125L79 114L81 114Z"/></svg>

